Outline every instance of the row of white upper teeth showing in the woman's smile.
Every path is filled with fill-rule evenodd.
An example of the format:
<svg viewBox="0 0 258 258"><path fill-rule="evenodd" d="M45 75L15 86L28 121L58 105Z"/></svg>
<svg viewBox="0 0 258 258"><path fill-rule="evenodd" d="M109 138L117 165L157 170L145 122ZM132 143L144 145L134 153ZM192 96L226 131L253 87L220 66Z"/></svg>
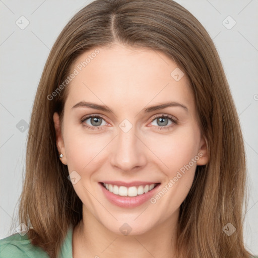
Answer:
<svg viewBox="0 0 258 258"><path fill-rule="evenodd" d="M139 185L137 186L131 186L131 187L125 187L125 186L118 186L113 184L106 184L103 183L103 185L106 187L107 190L110 192L113 192L115 195L119 196L129 196L134 197L138 195L143 195L143 193L146 193L150 190L152 190L157 184L150 184L150 185Z"/></svg>

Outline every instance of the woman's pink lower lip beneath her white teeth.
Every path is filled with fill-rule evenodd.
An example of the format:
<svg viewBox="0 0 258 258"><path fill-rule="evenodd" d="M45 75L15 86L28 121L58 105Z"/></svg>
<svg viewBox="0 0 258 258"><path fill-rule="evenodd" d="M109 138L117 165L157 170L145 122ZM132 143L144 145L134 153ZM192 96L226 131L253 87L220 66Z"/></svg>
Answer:
<svg viewBox="0 0 258 258"><path fill-rule="evenodd" d="M99 183L99 185L102 188L102 191L109 202L123 208L138 207L144 204L145 202L150 200L152 196L154 196L155 192L160 186L160 184L158 184L152 190L146 193L143 193L142 195L139 195L139 196L125 197L125 196L115 195L114 193L110 192L109 190L106 189L106 187L102 185L102 183Z"/></svg>

